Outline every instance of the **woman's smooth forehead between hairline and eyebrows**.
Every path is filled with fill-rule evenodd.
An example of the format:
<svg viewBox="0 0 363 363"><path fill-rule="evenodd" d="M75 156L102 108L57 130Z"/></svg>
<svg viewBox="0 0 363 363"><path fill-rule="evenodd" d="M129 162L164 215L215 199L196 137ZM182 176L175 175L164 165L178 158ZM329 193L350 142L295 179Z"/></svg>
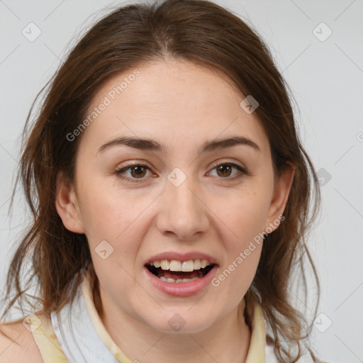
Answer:
<svg viewBox="0 0 363 363"><path fill-rule="evenodd" d="M203 140L238 134L264 149L267 137L257 116L241 108L244 98L213 69L191 62L149 62L101 86L85 116L95 117L82 137L96 145L129 135L162 140L169 147L198 147Z"/></svg>

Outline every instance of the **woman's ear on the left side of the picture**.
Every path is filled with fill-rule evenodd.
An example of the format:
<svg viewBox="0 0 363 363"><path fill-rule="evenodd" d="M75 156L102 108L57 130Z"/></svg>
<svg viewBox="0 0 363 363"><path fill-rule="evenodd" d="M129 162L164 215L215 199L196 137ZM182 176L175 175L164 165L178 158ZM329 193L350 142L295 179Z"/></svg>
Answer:
<svg viewBox="0 0 363 363"><path fill-rule="evenodd" d="M55 208L67 230L74 233L85 233L74 186L65 180L62 172L57 174Z"/></svg>

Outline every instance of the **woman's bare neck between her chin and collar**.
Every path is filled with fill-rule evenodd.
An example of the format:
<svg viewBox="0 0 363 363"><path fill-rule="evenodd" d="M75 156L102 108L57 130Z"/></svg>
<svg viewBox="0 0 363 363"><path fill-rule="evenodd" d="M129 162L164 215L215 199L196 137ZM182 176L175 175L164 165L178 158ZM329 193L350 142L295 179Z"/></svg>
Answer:
<svg viewBox="0 0 363 363"><path fill-rule="evenodd" d="M103 292L94 291L96 310L112 340L132 362L209 363L213 359L218 363L244 363L246 360L251 332L243 313L245 299L199 333L162 333L116 305L104 306Z"/></svg>

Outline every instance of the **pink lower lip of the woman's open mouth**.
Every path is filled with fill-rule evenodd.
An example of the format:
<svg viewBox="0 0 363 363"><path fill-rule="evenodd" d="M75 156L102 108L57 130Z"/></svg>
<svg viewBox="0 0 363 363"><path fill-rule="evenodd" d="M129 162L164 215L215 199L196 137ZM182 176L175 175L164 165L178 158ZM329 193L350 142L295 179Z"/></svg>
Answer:
<svg viewBox="0 0 363 363"><path fill-rule="evenodd" d="M218 266L215 264L213 269L211 269L206 276L201 277L200 279L190 281L190 282L181 282L180 284L173 284L170 282L165 282L160 280L152 274L147 267L144 267L146 270L147 278L150 279L152 285L154 285L159 291L162 291L164 294L170 296L191 296L198 294L200 291L206 288L213 279L213 276L216 274Z"/></svg>

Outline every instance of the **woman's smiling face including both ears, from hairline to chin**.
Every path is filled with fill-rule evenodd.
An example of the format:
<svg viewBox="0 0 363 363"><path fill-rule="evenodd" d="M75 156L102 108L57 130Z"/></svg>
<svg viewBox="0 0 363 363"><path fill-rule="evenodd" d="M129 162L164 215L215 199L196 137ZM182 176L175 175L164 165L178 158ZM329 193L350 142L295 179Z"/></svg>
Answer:
<svg viewBox="0 0 363 363"><path fill-rule="evenodd" d="M216 72L176 61L99 89L57 210L86 235L106 310L192 333L238 308L293 177L274 187L269 140L244 98Z"/></svg>

